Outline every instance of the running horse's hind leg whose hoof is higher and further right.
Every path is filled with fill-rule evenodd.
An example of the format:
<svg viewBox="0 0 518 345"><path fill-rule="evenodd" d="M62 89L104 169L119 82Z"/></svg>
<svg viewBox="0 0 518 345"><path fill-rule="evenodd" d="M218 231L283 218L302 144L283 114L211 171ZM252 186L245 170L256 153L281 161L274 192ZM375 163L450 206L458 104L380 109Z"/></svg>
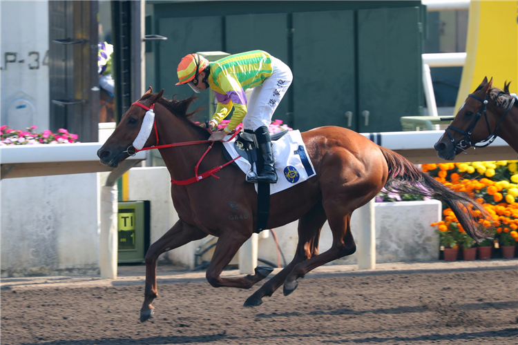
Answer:
<svg viewBox="0 0 518 345"><path fill-rule="evenodd" d="M324 253L311 257L311 259L295 266L285 280L283 289L285 296L289 295L297 288L297 279L304 277L309 271L318 266L322 266L323 264L339 259L340 257L351 255L356 251L356 244L354 243L350 226L352 213L344 211L342 214L343 215L341 216L329 217L328 219L329 227L333 233L332 247Z"/></svg>

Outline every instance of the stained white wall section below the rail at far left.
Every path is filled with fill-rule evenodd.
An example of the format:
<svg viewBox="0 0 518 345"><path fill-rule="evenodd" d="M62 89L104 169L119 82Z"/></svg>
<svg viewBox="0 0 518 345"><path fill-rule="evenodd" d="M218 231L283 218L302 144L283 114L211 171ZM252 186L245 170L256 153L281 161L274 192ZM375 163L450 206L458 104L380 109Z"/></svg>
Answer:
<svg viewBox="0 0 518 345"><path fill-rule="evenodd" d="M99 273L97 173L0 181L0 276Z"/></svg>

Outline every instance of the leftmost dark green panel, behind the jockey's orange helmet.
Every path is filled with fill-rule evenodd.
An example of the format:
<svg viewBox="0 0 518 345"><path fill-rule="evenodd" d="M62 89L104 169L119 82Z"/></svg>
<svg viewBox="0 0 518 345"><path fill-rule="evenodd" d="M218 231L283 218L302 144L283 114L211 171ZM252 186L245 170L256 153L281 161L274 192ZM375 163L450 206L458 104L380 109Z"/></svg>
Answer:
<svg viewBox="0 0 518 345"><path fill-rule="evenodd" d="M207 52L222 50L222 18L221 17L186 17L164 18L159 21L158 34L167 37L166 41L158 43L158 69L156 91L165 90L168 98L178 94L178 99L189 97L193 91L189 86L178 83L176 68L182 57L192 52ZM193 105L205 106L209 103L209 92L205 90ZM193 110L191 108L190 110ZM207 119L207 109L199 112L195 120Z"/></svg>

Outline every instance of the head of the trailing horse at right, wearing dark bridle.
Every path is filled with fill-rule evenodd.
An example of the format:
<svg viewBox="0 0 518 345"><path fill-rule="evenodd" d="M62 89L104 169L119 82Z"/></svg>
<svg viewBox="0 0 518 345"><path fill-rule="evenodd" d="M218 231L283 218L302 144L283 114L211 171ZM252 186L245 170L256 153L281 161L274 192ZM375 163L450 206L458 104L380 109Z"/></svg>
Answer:
<svg viewBox="0 0 518 345"><path fill-rule="evenodd" d="M497 126L495 117L486 116L492 80L491 78L488 82L487 77L483 79L479 87L463 103L441 139L434 145L437 155L442 159L452 161L466 148L491 136L491 128Z"/></svg>

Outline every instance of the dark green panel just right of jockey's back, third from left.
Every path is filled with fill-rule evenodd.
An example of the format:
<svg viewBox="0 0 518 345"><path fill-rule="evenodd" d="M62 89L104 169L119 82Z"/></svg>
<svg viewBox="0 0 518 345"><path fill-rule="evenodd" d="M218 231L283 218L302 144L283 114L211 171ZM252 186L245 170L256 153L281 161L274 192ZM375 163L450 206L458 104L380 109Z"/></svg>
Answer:
<svg viewBox="0 0 518 345"><path fill-rule="evenodd" d="M345 112L356 112L353 12L294 13L293 27L295 127L348 127Z"/></svg>

